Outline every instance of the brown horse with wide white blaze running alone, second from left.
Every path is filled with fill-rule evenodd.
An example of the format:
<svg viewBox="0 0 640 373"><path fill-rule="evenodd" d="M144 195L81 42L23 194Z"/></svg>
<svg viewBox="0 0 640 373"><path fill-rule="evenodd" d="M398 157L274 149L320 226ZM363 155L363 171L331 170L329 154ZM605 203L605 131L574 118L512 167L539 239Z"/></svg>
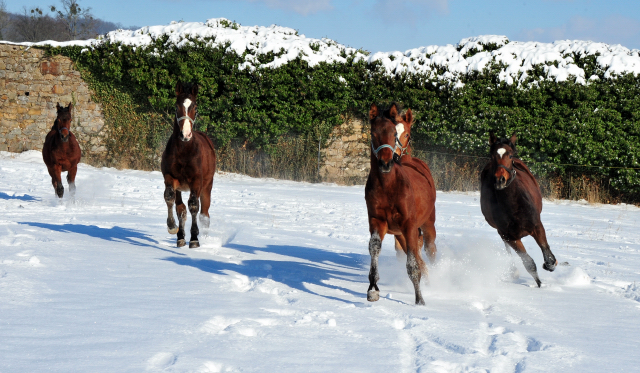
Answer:
<svg viewBox="0 0 640 373"><path fill-rule="evenodd" d="M191 213L191 238L189 247L199 247L198 224L196 214L200 210L200 223L209 227L209 206L211 188L216 171L216 152L213 142L207 135L195 131L197 116L196 98L198 86L195 84L176 86L176 117L173 121L173 133L162 153L160 168L164 176L164 200L167 203L167 228L170 234L178 233L177 246L186 244L184 225L187 220L187 208L182 202L181 192L189 193L189 212ZM179 227L173 218L173 205L176 205Z"/></svg>

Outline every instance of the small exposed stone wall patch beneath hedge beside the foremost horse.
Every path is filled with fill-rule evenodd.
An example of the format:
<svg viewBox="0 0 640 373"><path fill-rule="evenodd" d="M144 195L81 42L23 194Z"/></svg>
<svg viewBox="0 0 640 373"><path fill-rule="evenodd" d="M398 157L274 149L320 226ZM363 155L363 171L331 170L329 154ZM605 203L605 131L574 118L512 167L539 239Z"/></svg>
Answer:
<svg viewBox="0 0 640 373"><path fill-rule="evenodd" d="M327 147L321 151L320 177L339 184L364 184L370 167L369 124L362 119L345 118L333 129Z"/></svg>

